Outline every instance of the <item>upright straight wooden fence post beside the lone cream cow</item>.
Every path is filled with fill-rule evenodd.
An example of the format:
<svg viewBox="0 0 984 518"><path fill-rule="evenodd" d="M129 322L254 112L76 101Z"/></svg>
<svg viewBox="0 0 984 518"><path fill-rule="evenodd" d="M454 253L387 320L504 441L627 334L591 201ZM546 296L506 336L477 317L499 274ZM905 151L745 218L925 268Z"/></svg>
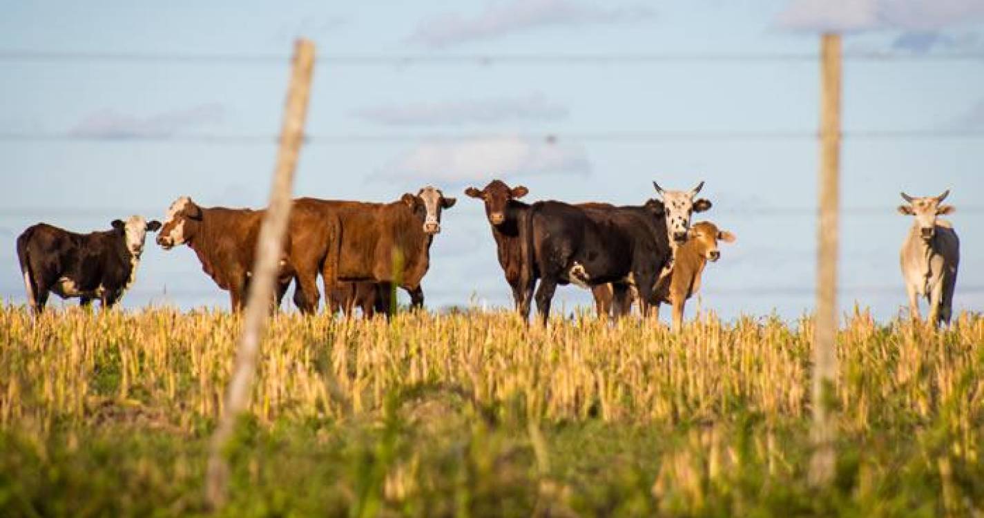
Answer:
<svg viewBox="0 0 984 518"><path fill-rule="evenodd" d="M813 440L810 480L828 484L834 473L831 406L837 378L837 232L840 167L840 35L821 42L820 231L817 317L813 337Z"/></svg>

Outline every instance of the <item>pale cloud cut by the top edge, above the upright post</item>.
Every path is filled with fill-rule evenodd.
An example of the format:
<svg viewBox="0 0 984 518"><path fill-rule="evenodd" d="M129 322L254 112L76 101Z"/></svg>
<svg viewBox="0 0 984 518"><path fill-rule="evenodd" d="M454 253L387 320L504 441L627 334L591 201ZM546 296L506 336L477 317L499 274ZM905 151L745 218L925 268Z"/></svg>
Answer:
<svg viewBox="0 0 984 518"><path fill-rule="evenodd" d="M984 21L981 0L793 0L777 20L803 31L936 31Z"/></svg>

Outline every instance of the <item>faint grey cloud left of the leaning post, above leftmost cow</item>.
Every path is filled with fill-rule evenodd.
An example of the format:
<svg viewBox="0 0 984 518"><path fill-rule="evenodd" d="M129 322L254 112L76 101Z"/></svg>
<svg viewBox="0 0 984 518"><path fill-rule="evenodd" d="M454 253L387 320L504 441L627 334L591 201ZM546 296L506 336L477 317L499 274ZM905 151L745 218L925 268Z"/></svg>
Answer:
<svg viewBox="0 0 984 518"><path fill-rule="evenodd" d="M225 112L225 107L218 103L200 104L149 116L128 115L103 109L84 117L69 133L105 139L170 137L181 130L221 122L225 118Z"/></svg>

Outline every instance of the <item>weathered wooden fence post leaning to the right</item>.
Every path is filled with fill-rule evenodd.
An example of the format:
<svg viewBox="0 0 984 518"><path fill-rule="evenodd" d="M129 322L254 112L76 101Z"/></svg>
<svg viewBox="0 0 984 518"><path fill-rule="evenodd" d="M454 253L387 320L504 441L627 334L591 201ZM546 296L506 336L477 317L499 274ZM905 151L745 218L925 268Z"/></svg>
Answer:
<svg viewBox="0 0 984 518"><path fill-rule="evenodd" d="M219 417L212 437L206 496L215 509L225 503L229 475L222 450L232 435L239 414L249 408L260 341L267 327L270 304L274 297L274 281L283 248L283 234L286 233L290 217L294 169L304 139L304 120L314 71L314 54L314 43L311 41L298 39L294 44L293 73L283 113L277 170L274 172L274 182L270 190L270 207L257 240L257 259L253 266L239 350L225 395L224 412Z"/></svg>

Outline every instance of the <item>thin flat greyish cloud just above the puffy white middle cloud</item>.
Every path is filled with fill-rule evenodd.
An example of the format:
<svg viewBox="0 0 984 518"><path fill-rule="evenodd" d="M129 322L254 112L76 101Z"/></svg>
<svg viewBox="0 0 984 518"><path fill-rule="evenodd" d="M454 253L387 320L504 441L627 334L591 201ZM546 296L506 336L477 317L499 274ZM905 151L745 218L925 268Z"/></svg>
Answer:
<svg viewBox="0 0 984 518"><path fill-rule="evenodd" d="M568 110L564 106L550 102L542 94L532 94L524 97L378 106L360 109L354 114L380 124L408 126L417 124L481 124L515 120L560 120L567 117Z"/></svg>

